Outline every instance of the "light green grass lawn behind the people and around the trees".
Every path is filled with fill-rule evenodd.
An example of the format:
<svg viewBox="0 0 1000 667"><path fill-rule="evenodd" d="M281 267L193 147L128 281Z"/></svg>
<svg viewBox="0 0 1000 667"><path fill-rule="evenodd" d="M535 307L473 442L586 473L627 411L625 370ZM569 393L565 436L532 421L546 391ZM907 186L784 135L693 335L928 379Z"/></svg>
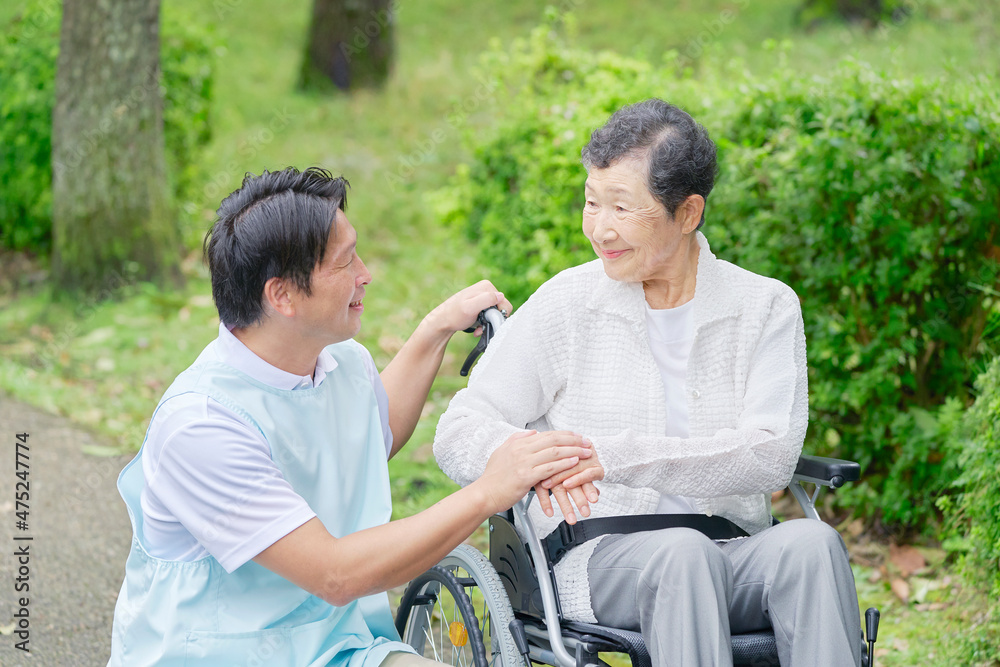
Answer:
<svg viewBox="0 0 1000 667"><path fill-rule="evenodd" d="M466 155L464 132L488 131L506 106L499 91L483 96L477 54L527 36L543 8L529 0L398 3L398 57L382 91L318 97L295 92L310 3L264 0L164 0L215 26L217 81L214 139L203 157L204 188L179 224L191 254L179 290L131 285L103 303L73 303L43 283L11 284L0 292L0 391L69 416L107 436L94 454L134 450L157 398L216 332L218 320L198 243L219 200L245 171L318 165L352 183L348 215L359 230L359 252L374 275L360 340L384 366L420 316L478 278L469 249L442 229L423 194L440 187ZM796 0L562 0L575 7L579 45L656 60L676 50L696 71L737 57L766 74L774 54L766 40L791 39L789 62L804 75L821 73L852 55L904 76L1000 74L997 0L916 3L913 17L884 30L828 22L805 31L795 23ZM0 22L20 9L0 7ZM466 112L455 127L456 110ZM387 173L401 174L391 183ZM0 258L0 262L5 261ZM501 285L502 288L502 285ZM390 463L397 516L416 512L454 488L430 451L437 418L464 381L458 367L472 340L453 341L410 445ZM478 535L474 542L482 544ZM862 608L883 609L881 665L937 664L952 658L950 637L975 623L974 598L920 610L888 592L887 579L858 570ZM941 577L947 568L941 565ZM972 614L972 616L968 616ZM958 662L949 662L958 660Z"/></svg>

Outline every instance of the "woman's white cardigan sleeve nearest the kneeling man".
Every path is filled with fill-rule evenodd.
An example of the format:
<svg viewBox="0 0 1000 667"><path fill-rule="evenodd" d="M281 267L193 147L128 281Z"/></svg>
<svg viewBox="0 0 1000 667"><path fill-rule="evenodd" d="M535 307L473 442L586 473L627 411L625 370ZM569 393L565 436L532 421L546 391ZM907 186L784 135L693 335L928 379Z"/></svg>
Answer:
<svg viewBox="0 0 1000 667"><path fill-rule="evenodd" d="M507 320L473 369L468 387L455 395L438 422L434 456L462 486L483 474L497 447L552 405L559 364L538 335L547 312L544 301L540 290Z"/></svg>

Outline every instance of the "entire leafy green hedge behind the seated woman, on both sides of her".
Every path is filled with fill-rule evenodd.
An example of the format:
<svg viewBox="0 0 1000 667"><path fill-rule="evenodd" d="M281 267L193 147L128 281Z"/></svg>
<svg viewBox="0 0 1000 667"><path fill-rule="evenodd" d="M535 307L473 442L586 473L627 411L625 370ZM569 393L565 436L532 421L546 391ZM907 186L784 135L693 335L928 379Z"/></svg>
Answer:
<svg viewBox="0 0 1000 667"><path fill-rule="evenodd" d="M495 133L469 137L473 160L432 203L523 301L593 257L580 231L589 133L650 96L686 108L720 149L713 250L802 299L807 449L864 465L845 503L930 532L958 472L941 451L940 406L963 399L977 360L997 351L998 86L853 62L807 80L776 61L766 80L730 67L696 81L669 58L574 51L544 26L486 59L517 104Z"/></svg>

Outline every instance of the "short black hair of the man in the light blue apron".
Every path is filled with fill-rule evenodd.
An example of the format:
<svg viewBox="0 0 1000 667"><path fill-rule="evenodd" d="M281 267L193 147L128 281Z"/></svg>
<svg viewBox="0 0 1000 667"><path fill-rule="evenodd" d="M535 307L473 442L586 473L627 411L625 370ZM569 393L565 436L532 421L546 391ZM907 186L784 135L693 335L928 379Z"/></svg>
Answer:
<svg viewBox="0 0 1000 667"><path fill-rule="evenodd" d="M312 272L323 261L337 209L347 210L349 183L325 169L289 167L247 173L222 200L205 235L212 297L219 318L239 328L264 316L264 284L292 280L311 293Z"/></svg>

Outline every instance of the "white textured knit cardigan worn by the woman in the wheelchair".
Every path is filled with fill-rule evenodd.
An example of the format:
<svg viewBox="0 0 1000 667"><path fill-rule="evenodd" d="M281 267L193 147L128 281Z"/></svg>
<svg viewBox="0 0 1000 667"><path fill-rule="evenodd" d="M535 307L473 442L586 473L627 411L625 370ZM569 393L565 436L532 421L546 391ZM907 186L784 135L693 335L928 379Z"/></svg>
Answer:
<svg viewBox="0 0 1000 667"><path fill-rule="evenodd" d="M501 327L438 423L434 454L459 484L525 428L589 437L605 469L592 516L649 514L660 494L694 499L753 534L770 494L791 480L808 421L802 315L787 285L716 259L698 232L695 338L687 367L688 438L668 437L666 398L639 283L600 260L561 272ZM541 535L561 520L537 503ZM599 540L556 566L565 617L596 622L587 563Z"/></svg>

